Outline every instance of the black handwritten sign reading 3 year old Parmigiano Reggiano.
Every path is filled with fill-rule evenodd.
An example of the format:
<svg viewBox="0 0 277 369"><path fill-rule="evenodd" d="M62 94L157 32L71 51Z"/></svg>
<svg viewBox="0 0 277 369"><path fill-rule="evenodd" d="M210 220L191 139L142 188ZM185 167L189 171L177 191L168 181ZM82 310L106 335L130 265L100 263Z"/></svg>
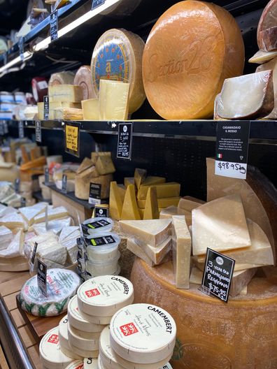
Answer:
<svg viewBox="0 0 277 369"><path fill-rule="evenodd" d="M234 259L207 247L202 292L216 296L227 303L234 265Z"/></svg>

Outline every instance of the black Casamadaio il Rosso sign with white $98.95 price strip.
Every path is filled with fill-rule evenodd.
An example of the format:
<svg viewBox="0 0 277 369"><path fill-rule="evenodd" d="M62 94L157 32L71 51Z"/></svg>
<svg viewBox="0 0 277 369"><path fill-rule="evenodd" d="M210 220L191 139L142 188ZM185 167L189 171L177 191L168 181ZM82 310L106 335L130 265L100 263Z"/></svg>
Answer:
<svg viewBox="0 0 277 369"><path fill-rule="evenodd" d="M218 122L215 174L246 179L250 122Z"/></svg>

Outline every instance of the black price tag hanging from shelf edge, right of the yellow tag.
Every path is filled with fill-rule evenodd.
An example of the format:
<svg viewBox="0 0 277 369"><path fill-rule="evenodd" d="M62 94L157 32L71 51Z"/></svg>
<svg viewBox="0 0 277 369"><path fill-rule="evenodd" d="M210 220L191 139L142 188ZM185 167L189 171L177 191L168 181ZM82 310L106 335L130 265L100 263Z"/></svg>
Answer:
<svg viewBox="0 0 277 369"><path fill-rule="evenodd" d="M131 160L133 141L133 124L118 124L118 152L117 157L120 159Z"/></svg>

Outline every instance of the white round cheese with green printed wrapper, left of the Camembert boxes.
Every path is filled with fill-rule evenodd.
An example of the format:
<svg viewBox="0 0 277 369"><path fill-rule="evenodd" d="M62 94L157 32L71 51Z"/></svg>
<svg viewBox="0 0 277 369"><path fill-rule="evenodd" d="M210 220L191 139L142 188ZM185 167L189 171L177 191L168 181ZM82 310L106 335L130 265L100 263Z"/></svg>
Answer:
<svg viewBox="0 0 277 369"><path fill-rule="evenodd" d="M20 291L23 310L39 317L52 317L66 311L67 305L80 286L80 278L71 270L53 268L48 270L45 297L37 284L37 277L31 277Z"/></svg>

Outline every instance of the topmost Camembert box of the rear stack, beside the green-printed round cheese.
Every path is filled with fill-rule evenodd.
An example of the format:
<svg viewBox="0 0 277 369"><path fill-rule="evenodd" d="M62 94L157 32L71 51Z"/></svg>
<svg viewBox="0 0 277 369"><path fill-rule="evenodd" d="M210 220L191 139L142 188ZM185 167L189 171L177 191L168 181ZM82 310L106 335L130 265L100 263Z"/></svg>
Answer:
<svg viewBox="0 0 277 369"><path fill-rule="evenodd" d="M83 283L77 291L81 312L95 317L111 317L134 301L132 282L116 275L102 275Z"/></svg>

